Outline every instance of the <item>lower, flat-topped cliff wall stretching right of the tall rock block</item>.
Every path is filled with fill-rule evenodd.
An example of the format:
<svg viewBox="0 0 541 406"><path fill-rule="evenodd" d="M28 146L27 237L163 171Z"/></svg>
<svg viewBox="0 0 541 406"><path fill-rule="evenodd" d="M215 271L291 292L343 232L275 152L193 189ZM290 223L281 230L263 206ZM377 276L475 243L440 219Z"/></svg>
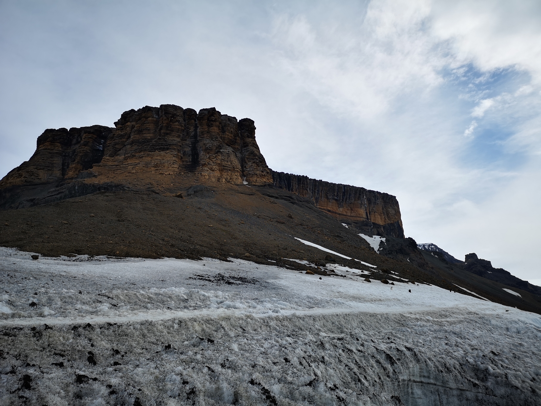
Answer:
<svg viewBox="0 0 541 406"><path fill-rule="evenodd" d="M283 172L272 171L272 177L275 187L312 199L318 208L361 232L404 238L398 200L390 194Z"/></svg>

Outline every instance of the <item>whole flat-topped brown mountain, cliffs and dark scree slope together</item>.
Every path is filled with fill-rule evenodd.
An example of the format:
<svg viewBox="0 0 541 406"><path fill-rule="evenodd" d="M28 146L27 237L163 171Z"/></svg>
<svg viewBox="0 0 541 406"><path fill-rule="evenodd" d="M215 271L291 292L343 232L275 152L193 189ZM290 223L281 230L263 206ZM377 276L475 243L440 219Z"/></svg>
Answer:
<svg viewBox="0 0 541 406"><path fill-rule="evenodd" d="M533 292L516 296L419 250L405 238L394 196L273 171L250 119L163 104L128 110L114 124L38 137L34 155L0 181L1 246L48 256L249 258L287 269L312 261L322 276L329 260L370 264L380 280L459 286L541 312ZM378 251L367 242L374 236Z"/></svg>

